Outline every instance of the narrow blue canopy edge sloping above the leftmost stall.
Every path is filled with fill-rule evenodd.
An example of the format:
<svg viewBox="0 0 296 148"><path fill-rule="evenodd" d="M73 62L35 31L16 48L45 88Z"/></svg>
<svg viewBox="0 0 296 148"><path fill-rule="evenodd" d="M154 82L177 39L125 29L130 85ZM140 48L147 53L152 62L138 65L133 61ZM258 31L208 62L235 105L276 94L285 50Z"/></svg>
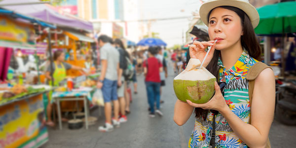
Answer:
<svg viewBox="0 0 296 148"><path fill-rule="evenodd" d="M39 24L39 25L41 25L43 27L49 27L49 28L53 28L53 29L56 28L55 26L53 26L51 24L39 21L39 20L37 20L37 19L35 19L33 17L28 17L28 16L23 15L23 14L15 13L15 12L10 11L10 10L5 10L5 9L0 8L0 14L9 15L9 16L12 16L12 17L15 17L15 18L21 18L21 19L24 19L24 20L28 20L31 23L37 23L37 24Z"/></svg>

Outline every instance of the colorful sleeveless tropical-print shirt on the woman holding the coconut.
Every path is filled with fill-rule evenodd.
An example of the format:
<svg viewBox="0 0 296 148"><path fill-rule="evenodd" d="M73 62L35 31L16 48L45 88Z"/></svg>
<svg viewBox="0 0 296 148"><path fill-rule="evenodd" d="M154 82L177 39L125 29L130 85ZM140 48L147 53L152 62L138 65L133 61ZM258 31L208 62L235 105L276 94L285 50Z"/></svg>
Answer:
<svg viewBox="0 0 296 148"><path fill-rule="evenodd" d="M225 102L229 109L241 118L244 122L249 122L250 101L249 101L249 81L246 79L248 70L258 61L249 56L244 49L242 55L235 65L226 70L219 58L219 80L223 75L227 85L224 89ZM209 148L212 136L212 122L214 114L209 112L206 120L197 118L194 130L190 136L188 148ZM216 146L215 148L247 148L238 136L232 131L222 114L216 116Z"/></svg>

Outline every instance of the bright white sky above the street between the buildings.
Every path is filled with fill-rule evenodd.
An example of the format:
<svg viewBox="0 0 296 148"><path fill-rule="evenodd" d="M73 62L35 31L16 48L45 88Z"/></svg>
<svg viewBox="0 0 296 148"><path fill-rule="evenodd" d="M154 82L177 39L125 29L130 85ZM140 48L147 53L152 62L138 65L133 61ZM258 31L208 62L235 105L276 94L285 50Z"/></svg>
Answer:
<svg viewBox="0 0 296 148"><path fill-rule="evenodd" d="M201 5L200 0L142 0L139 8L143 11L143 19L174 18L192 16L192 12L198 12ZM141 13L140 10L140 13ZM184 10L182 12L181 10ZM168 47L174 44L183 44L182 34L188 30L189 18L156 21L151 24L151 31L159 33L159 37L164 40Z"/></svg>

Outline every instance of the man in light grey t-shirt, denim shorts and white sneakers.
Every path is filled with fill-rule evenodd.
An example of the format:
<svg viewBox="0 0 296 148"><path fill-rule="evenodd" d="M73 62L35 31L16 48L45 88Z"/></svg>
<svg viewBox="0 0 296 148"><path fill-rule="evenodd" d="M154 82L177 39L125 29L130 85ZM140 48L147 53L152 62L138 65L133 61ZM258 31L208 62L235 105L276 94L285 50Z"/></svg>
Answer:
<svg viewBox="0 0 296 148"><path fill-rule="evenodd" d="M99 131L109 132L113 130L113 125L120 126L118 120L119 103L117 96L117 86L121 86L121 74L119 72L119 52L111 45L111 38L106 35L98 37L101 47L101 75L98 81L98 88L102 89L105 103L105 126L100 126ZM111 101L114 107L113 125L111 122Z"/></svg>

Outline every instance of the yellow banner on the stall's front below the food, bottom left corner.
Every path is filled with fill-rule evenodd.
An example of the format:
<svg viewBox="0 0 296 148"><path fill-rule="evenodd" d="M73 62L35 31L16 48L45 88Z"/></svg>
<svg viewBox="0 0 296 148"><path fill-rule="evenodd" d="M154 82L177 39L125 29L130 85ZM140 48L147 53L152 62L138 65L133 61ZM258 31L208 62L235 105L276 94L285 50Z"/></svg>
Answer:
<svg viewBox="0 0 296 148"><path fill-rule="evenodd" d="M0 148L38 148L47 141L42 94L0 106Z"/></svg>

